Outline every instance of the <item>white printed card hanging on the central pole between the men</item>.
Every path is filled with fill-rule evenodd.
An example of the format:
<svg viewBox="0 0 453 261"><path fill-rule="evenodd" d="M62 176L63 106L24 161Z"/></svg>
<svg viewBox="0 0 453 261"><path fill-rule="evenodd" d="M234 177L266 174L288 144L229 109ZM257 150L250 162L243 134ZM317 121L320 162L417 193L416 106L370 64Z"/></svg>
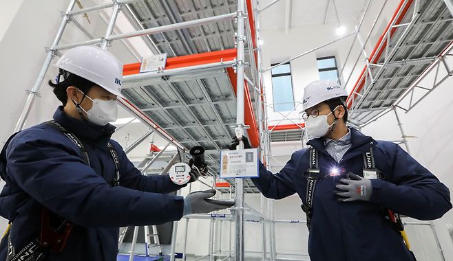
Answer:
<svg viewBox="0 0 453 261"><path fill-rule="evenodd" d="M258 148L220 151L220 179L260 177Z"/></svg>

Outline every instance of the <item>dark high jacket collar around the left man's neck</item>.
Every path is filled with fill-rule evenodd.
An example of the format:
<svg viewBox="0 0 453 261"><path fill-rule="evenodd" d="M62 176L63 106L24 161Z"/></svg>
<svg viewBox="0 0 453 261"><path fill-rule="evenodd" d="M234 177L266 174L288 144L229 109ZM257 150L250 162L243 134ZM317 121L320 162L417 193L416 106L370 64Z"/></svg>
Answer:
<svg viewBox="0 0 453 261"><path fill-rule="evenodd" d="M107 142L115 131L115 126L107 124L100 126L92 122L85 122L74 117L68 116L63 111L63 106L59 106L54 113L54 120L65 127L67 131L74 133L79 139L91 141L96 144L99 141Z"/></svg>

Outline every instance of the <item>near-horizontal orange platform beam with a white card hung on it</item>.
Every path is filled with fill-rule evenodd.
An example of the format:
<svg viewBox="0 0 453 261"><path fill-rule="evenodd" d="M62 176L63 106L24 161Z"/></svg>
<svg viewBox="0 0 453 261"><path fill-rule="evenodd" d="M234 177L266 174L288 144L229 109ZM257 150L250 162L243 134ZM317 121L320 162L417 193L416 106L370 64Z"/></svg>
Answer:
<svg viewBox="0 0 453 261"><path fill-rule="evenodd" d="M175 69L180 67L189 67L194 65L207 65L209 63L220 63L220 61L228 62L234 60L238 54L237 49L227 49L223 51L191 54L187 56L178 56L167 58L165 69ZM123 68L123 76L140 73L141 63L131 63Z"/></svg>

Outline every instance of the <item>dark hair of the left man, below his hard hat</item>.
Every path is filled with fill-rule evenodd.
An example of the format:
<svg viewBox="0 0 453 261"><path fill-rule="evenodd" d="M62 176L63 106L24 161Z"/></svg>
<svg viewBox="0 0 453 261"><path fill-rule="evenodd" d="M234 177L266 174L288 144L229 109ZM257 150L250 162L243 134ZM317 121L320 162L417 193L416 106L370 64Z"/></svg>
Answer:
<svg viewBox="0 0 453 261"><path fill-rule="evenodd" d="M60 69L61 75L60 77L64 77L63 82L59 82L58 78L56 79L56 84L52 82L52 80L49 80L49 85L50 87L54 88L54 94L56 95L56 98L60 100L60 102L63 104L63 106L66 106L67 102L67 93L66 89L67 87L73 86L76 87L77 89L81 90L83 93L87 94L89 89L94 87L96 84L93 82L90 82L89 80L85 78L81 78L80 76L76 76L74 73L69 73L67 71L63 71Z"/></svg>

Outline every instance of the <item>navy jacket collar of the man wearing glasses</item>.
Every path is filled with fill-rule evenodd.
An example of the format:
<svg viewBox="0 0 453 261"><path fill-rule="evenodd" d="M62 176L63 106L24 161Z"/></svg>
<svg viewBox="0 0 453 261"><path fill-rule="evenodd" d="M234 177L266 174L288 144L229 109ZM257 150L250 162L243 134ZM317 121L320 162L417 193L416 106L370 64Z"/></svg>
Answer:
<svg viewBox="0 0 453 261"><path fill-rule="evenodd" d="M350 134L351 134L351 148L346 152L346 155L344 155L343 160L349 159L350 157L354 157L357 154L361 154L368 150L368 148L372 148L376 146L377 141L372 139L372 137L364 135L360 131L358 131L356 128L348 127L350 129ZM317 151L322 152L326 155L329 155L326 149L324 148L324 139L323 138L317 138L317 139L310 139L307 142L307 145L312 146L315 148Z"/></svg>

